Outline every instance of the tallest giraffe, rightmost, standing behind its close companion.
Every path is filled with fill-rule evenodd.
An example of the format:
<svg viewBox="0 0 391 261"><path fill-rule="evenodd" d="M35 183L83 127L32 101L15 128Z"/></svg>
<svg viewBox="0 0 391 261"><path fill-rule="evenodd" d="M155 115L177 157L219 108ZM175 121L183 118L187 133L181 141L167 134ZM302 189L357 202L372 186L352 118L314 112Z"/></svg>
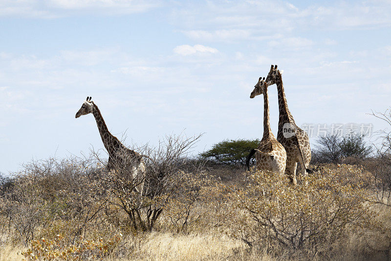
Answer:
<svg viewBox="0 0 391 261"><path fill-rule="evenodd" d="M266 77L266 81L270 81L270 85L277 85L280 112L277 141L281 142L286 150L285 173L288 175L291 184L296 185L297 163L300 163L303 166L304 175L312 172L312 170L307 168L311 161L311 148L307 133L296 125L295 120L288 109L282 84L282 72L283 71L277 70L277 65L272 65L269 74Z"/></svg>

